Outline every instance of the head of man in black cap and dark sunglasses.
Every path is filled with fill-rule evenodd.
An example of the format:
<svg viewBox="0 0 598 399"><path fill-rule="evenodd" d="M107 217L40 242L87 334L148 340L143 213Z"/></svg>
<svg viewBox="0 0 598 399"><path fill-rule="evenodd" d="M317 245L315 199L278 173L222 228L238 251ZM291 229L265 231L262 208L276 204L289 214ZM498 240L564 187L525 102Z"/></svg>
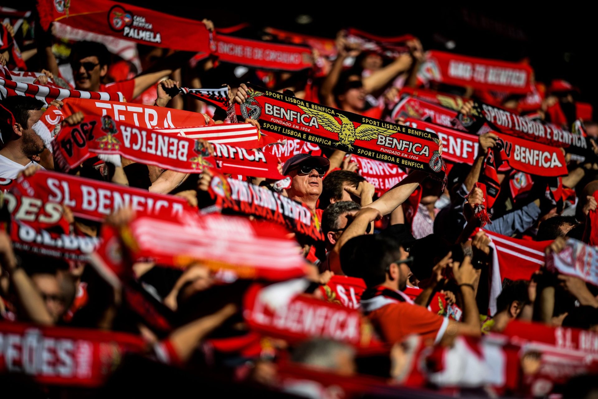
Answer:
<svg viewBox="0 0 598 399"><path fill-rule="evenodd" d="M289 158L282 166L282 174L291 177L291 187L286 188L286 196L315 211L322 194L322 178L329 167L330 162L324 157L297 154Z"/></svg>

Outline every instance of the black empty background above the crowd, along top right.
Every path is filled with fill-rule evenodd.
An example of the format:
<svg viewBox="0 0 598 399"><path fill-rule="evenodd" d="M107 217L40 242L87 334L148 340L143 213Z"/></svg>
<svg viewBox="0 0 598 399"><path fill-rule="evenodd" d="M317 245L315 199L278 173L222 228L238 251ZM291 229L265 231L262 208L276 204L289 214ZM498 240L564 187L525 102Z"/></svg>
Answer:
<svg viewBox="0 0 598 399"><path fill-rule="evenodd" d="M243 31L246 37L253 33L257 38L259 28L272 26L334 38L340 29L353 27L380 36L411 33L420 38L425 49L509 61L529 59L536 80L549 86L551 80L560 78L578 87L581 90L578 99L592 103L594 120L598 120L598 98L594 96L598 93L594 56L598 18L594 7L572 6L567 2L542 6L492 2L492 6L483 7L439 6L423 1L404 5L371 0L124 2L185 18L208 18L216 28L249 22L256 29ZM17 3L12 7L23 8L24 4ZM210 7L219 4L222 7ZM307 16L303 22L309 23L299 23L300 16ZM185 32L181 32L181 40L185 40ZM454 48L446 47L449 41Z"/></svg>

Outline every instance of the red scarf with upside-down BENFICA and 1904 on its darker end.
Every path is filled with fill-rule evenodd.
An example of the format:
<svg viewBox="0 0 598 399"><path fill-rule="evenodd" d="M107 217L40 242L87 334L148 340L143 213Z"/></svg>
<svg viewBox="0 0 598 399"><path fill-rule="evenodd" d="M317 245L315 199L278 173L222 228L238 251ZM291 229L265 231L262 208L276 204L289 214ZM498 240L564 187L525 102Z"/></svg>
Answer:
<svg viewBox="0 0 598 399"><path fill-rule="evenodd" d="M202 173L215 167L215 160L197 139L173 136L157 130L138 128L117 122L109 115L90 116L77 126L64 126L54 141L54 157L64 170L93 156L120 165L120 156L164 169L184 173Z"/></svg>

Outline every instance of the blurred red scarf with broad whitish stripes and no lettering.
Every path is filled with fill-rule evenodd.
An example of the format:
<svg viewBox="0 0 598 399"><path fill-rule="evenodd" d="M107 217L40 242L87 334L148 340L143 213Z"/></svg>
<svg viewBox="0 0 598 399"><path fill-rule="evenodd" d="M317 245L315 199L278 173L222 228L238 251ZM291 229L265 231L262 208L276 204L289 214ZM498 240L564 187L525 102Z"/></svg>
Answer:
<svg viewBox="0 0 598 399"><path fill-rule="evenodd" d="M306 264L297 242L287 234L277 224L241 217L189 212L177 219L138 215L121 232L104 229L105 245L93 255L93 264L116 286L131 273L126 259L178 269L199 262L227 274L229 281L284 281L304 276ZM213 237L218 237L217 243ZM118 255L121 245L127 258Z"/></svg>

